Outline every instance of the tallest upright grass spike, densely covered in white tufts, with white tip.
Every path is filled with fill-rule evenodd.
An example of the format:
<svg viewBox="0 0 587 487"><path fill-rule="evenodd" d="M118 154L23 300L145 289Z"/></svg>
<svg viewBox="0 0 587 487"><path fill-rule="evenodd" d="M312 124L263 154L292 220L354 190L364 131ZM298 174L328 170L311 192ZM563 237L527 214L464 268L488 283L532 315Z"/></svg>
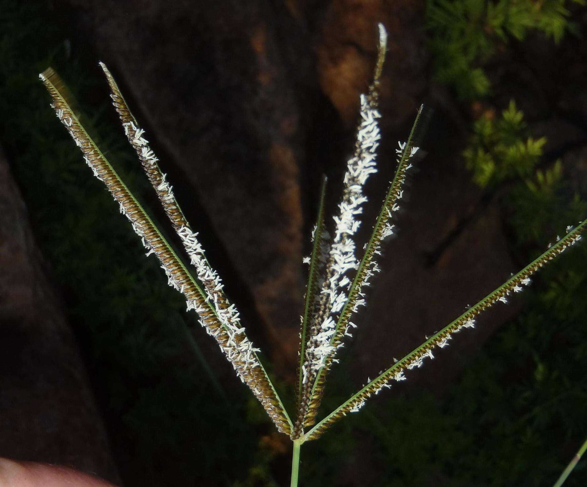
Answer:
<svg viewBox="0 0 587 487"><path fill-rule="evenodd" d="M361 95L360 119L357 126L355 153L347 163L344 178L340 213L334 217L335 234L330 246L325 280L321 290L320 303L312 320L310 340L306 346L305 381L303 383L301 408L298 411L296 432L304 426L311 426L319 405L312 395L316 377L324 366L326 357L334 350L331 345L337 315L346 301L346 288L350 283L346 273L357 268L355 241L353 235L359 229L357 215L363 212L363 203L367 198L363 194L363 185L370 174L376 173L376 151L379 146L379 124L381 116L377 111L379 100L379 82L383 69L383 60L387 36L382 24L379 24L379 46L377 63L372 85L367 95Z"/></svg>

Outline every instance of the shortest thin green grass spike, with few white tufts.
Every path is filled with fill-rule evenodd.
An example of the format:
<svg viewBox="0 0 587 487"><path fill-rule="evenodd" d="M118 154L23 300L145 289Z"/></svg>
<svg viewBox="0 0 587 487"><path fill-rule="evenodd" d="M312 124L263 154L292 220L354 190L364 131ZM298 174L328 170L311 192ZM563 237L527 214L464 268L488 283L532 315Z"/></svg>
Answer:
<svg viewBox="0 0 587 487"><path fill-rule="evenodd" d="M302 316L300 340L299 340L299 364L298 364L298 394L297 394L297 411L298 420L294 425L292 438L298 438L303 433L303 418L300 416L302 404L303 383L306 376L306 369L304 367L304 359L306 356L306 342L309 340L308 324L311 321L312 315L316 310L316 305L319 302L319 271L321 268L321 259L323 257L323 243L327 235L324 229L324 204L326 198L326 176L322 178L322 187L320 190L320 204L318 207L318 217L316 218L316 225L312 232L312 255L309 258L308 270L308 284L306 285L305 304Z"/></svg>

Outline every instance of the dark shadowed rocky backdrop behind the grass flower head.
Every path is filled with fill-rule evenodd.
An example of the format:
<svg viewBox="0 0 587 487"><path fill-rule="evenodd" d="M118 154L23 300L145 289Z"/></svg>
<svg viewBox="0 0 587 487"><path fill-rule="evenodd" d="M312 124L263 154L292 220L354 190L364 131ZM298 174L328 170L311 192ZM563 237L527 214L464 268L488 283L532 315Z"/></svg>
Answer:
<svg viewBox="0 0 587 487"><path fill-rule="evenodd" d="M289 474L288 439L143 258L48 108L35 78L49 64L164 225L108 105L97 61L109 66L288 400L318 186L328 174L335 209L377 22L389 32L383 142L359 239L416 108L434 115L325 409L584 217L585 8L569 5L574 33L558 43L542 32L496 42L476 60L492 89L471 96L438 76L432 4L443 2L0 0L0 455L126 486L286 485ZM532 135L548 137L539 167L561 158L564 168L534 240L517 233L512 210L522 179L480 189L461 156L474 120L512 98ZM304 445L302 485L554 483L587 431L585 250L572 252L534 295L488 312L404 384Z"/></svg>

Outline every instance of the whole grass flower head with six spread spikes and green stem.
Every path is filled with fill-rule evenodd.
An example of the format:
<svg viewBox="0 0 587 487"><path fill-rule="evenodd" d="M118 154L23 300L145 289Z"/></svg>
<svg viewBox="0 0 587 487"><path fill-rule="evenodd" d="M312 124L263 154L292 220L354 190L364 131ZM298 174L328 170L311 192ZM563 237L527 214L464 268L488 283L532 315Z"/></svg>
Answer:
<svg viewBox="0 0 587 487"><path fill-rule="evenodd" d="M296 411L293 415L286 411L279 399L271 378L259 361L258 348L248 339L235 305L225 295L220 276L205 257L197 232L185 219L173 188L158 166L158 159L151 150L149 141L144 137L144 130L130 112L112 74L100 63L124 133L136 151L173 230L183 244L190 268L173 251L149 214L87 133L68 90L56 73L49 68L40 75L52 98L51 106L56 115L82 151L83 159L94 176L106 184L119 204L121 213L129 219L134 232L147 250L147 256L153 254L158 259L166 273L168 284L184 295L187 309L198 314L200 324L216 340L238 377L261 402L278 431L291 438L292 487L298 485L299 453L304 442L318 439L346 414L359 411L372 395L392 387L394 382L404 381L407 371L421 367L424 361L433 358L434 350L446 347L454 333L464 328L474 328L478 314L498 302L506 303L512 294L522 291L530 283L532 274L579 241L587 226L585 220L576 227L567 227L565 236L549 246L536 260L512 275L477 304L467 308L463 314L427 338L415 350L380 372L376 378L368 380L360 391L316 423L326 378L332 365L338 361L337 351L356 327L352 321L353 314L366 304L365 287L369 284L369 279L379 271L377 256L387 237L393 233L394 213L399 209L406 174L420 156L419 147L416 146L416 130L423 120L423 107L417 110L407 140L400 142L396 149L396 171L373 223L369 240L364 246L357 245L355 236L362 223L360 217L363 205L367 201L363 188L369 177L377 172L377 147L381 138L381 115L377 107L386 37L386 31L380 24L375 74L367 92L360 95L355 150L346 164L342 197L338 213L333 215L332 220L325 216L326 179L322 183L321 203L312 232L312 252L311 256L304 259L308 264L308 283L301 320Z"/></svg>

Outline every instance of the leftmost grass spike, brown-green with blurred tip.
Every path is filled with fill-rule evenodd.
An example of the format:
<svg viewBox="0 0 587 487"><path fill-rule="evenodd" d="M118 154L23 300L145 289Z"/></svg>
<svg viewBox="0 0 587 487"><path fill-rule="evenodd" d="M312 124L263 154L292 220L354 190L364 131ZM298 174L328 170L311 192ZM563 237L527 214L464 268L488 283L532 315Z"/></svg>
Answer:
<svg viewBox="0 0 587 487"><path fill-rule="evenodd" d="M188 310L193 309L198 313L200 324L216 339L222 352L237 371L238 377L251 388L279 431L289 434L292 428L291 420L258 360L258 349L248 340L244 328L234 329L222 323L205 291L184 267L146 211L79 122L79 116L72 109L66 95L68 90L59 76L49 68L39 75L39 78L52 98L51 106L55 109L56 115L82 150L85 162L94 175L106 184L114 200L119 203L121 213L130 220L133 230L141 237L144 247L149 250L147 255L153 253L157 256L167 274L168 284L184 295Z"/></svg>

